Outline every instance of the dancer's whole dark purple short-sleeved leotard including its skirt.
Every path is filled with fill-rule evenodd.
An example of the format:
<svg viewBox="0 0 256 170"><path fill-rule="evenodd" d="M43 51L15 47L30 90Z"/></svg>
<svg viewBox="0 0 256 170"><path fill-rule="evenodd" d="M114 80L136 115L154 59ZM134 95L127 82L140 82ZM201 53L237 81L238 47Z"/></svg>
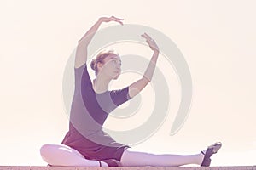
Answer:
<svg viewBox="0 0 256 170"><path fill-rule="evenodd" d="M111 111L131 99L128 87L96 94L92 88L87 65L74 68L74 72L75 91L69 131L62 144L78 150L90 160L120 161L123 152L129 146L117 143L108 133L102 131L102 125Z"/></svg>

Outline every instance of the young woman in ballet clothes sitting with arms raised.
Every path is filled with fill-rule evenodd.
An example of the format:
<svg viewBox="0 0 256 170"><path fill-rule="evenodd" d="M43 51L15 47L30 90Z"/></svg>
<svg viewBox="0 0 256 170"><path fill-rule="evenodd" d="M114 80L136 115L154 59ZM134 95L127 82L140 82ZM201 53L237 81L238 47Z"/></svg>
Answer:
<svg viewBox="0 0 256 170"><path fill-rule="evenodd" d="M44 161L51 166L182 166L198 164L210 166L211 156L219 150L221 143L212 144L195 155L156 155L131 150L130 146L119 144L107 133L102 125L108 114L125 101L132 99L145 88L154 74L159 48L154 40L144 33L153 56L143 77L131 85L108 90L108 84L121 73L121 59L113 51L102 52L93 59L90 67L96 71L91 81L88 74L87 47L104 22L118 22L123 19L101 17L79 40L75 56L75 92L70 113L69 131L62 144L44 144L40 150Z"/></svg>

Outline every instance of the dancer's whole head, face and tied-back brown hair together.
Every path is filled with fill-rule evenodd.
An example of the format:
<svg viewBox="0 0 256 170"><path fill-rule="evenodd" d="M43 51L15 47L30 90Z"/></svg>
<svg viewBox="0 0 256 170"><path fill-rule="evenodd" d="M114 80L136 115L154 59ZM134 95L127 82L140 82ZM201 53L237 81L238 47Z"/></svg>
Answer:
<svg viewBox="0 0 256 170"><path fill-rule="evenodd" d="M102 51L92 59L90 67L95 71L96 76L108 77L116 80L121 73L121 59L119 54L113 50Z"/></svg>

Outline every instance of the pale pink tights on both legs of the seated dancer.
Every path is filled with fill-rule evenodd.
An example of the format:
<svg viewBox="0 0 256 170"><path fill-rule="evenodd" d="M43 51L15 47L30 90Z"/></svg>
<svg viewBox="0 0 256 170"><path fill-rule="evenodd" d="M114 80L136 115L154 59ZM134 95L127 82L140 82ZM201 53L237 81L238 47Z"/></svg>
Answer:
<svg viewBox="0 0 256 170"><path fill-rule="evenodd" d="M100 162L85 159L77 150L73 150L64 144L44 144L40 153L44 161L52 166L83 166L100 167ZM172 154L152 154L133 151L131 148L125 150L121 157L122 166L172 166L178 167L187 164L198 164L204 155L201 153L195 155L172 155ZM101 161L102 167L108 167L108 164Z"/></svg>

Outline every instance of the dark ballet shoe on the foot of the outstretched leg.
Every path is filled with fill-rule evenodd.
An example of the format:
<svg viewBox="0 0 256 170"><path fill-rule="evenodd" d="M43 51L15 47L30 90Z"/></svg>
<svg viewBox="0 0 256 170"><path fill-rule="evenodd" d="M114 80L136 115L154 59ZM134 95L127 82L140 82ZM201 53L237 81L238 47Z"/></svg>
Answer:
<svg viewBox="0 0 256 170"><path fill-rule="evenodd" d="M218 150L221 148L221 145L222 144L220 142L217 142L215 144L208 146L206 153L201 151L201 153L204 155L204 159L201 163L201 167L209 167L210 166L211 161L212 161L211 156L218 152Z"/></svg>

